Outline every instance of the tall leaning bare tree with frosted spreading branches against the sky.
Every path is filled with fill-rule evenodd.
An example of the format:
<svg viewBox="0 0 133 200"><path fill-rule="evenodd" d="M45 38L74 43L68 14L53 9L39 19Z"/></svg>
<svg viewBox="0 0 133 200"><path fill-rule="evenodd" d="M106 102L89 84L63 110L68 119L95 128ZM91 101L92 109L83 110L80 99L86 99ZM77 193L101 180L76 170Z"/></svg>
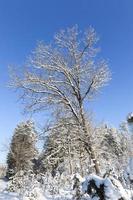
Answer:
<svg viewBox="0 0 133 200"><path fill-rule="evenodd" d="M97 57L97 41L92 27L84 32L77 26L61 30L50 44L38 43L24 73L15 73L12 80L22 92L26 111L59 106L75 118L81 134L86 136L81 140L98 174L99 163L91 145L85 108L110 80L110 70L108 63Z"/></svg>

